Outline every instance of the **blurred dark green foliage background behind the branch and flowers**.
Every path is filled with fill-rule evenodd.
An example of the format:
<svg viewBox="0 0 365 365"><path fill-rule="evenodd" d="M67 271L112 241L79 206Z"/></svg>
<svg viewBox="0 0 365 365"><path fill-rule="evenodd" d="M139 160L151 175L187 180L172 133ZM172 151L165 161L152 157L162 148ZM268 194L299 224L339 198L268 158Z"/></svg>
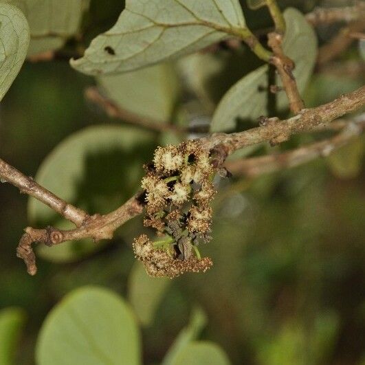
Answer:
<svg viewBox="0 0 365 365"><path fill-rule="evenodd" d="M308 12L320 1L283 0L281 4ZM245 1L242 5L252 30L271 24L265 8L253 12ZM123 6L119 0L92 0L82 22L82 42L87 45L109 29ZM320 43L327 41L323 34ZM72 49L73 42L65 49ZM155 104L158 91L161 103L152 118L183 125L197 115L207 120L225 91L260 65L245 46L221 46L199 57L190 74L195 85L181 77L177 72L181 65L176 64L158 71L165 85L152 77L156 88L127 76L123 85L140 97L140 113L148 111L149 103ZM364 74L346 69L362 62L354 43L339 59L316 70L304 93L307 106L360 87ZM111 80L97 81L107 89ZM107 118L85 101L83 92L91 85L96 80L77 73L64 60L25 63L0 104L0 155L88 212L108 212L137 190L142 164L151 159L155 146L179 138ZM111 97L118 101L123 93ZM119 102L138 112L135 98ZM104 142L102 131L108 129L115 140L119 135L126 138ZM309 136L296 137L280 148L310 141ZM63 145L58 146L60 142ZM63 151L58 154L62 161L57 161L57 151ZM10 331L22 327L13 346L14 364L34 363L45 316L69 291L83 285L113 289L131 303L142 329L145 364L162 361L197 306L206 317L206 327L199 325L199 338L219 344L232 364L365 364L365 170L363 149L356 151L360 152L351 155L355 167L346 159L349 152L342 152L335 162L318 159L254 180L217 181L213 240L201 248L212 256L214 267L207 274L173 281L148 278L135 263L131 241L143 229L138 218L120 228L111 242L72 243L55 250L39 247L38 274L28 276L15 256L23 228L29 224L63 227L65 222L2 184L0 309L12 311L6 317ZM254 153L265 153L265 148ZM47 179L47 169L52 172L52 168L59 173L55 181ZM16 340L14 331L1 332L3 322L0 316L0 343L3 338ZM199 349L191 351L199 353ZM0 344L0 362L8 364L1 359Z"/></svg>

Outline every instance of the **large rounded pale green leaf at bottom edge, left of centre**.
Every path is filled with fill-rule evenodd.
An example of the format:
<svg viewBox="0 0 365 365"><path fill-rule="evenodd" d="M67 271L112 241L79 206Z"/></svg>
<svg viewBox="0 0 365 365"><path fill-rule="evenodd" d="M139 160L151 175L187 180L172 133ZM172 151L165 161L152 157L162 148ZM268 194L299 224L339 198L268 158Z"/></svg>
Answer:
<svg viewBox="0 0 365 365"><path fill-rule="evenodd" d="M140 333L126 302L110 290L82 287L43 322L36 364L137 365L140 351Z"/></svg>

